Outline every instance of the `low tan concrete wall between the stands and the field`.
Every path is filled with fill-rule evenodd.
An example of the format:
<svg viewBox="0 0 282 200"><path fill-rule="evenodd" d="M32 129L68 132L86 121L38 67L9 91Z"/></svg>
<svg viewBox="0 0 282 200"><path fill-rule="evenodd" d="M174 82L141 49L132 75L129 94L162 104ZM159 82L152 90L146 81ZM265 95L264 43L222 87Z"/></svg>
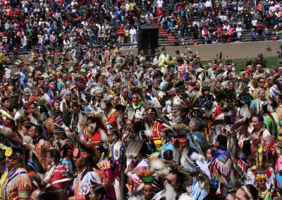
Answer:
<svg viewBox="0 0 282 200"><path fill-rule="evenodd" d="M259 53L264 56L278 56L277 51L280 48L282 42L274 41L262 41L262 42L242 42L231 44L200 44L188 46L194 52L197 52L201 60L212 60L222 51L223 58L255 58ZM160 48L159 48L160 49ZM184 54L188 51L185 46L167 46L166 52L169 56L176 56L176 50L180 51L180 54ZM123 55L128 52L137 54L137 49L125 49L121 50Z"/></svg>

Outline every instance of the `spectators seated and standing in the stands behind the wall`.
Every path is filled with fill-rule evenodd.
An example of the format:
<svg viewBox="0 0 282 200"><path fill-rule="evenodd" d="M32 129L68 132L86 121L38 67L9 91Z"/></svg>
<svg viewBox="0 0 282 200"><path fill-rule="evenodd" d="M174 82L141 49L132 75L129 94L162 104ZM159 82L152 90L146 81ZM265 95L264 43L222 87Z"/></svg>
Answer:
<svg viewBox="0 0 282 200"><path fill-rule="evenodd" d="M280 1L2 1L1 51L136 44L138 25L158 23L180 39L211 42L281 37ZM164 9L166 7L166 10ZM167 11L168 10L168 11ZM167 11L167 12L166 12ZM196 18L196 19L195 19ZM201 43L201 42L199 42Z"/></svg>

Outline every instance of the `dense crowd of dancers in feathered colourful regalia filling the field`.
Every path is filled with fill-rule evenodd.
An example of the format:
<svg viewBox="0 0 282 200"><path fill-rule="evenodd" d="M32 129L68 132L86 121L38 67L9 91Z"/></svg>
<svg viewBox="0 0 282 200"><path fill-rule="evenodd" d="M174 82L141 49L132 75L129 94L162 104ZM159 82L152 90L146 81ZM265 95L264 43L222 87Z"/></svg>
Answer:
<svg viewBox="0 0 282 200"><path fill-rule="evenodd" d="M281 199L282 62L51 51L0 65L0 199Z"/></svg>

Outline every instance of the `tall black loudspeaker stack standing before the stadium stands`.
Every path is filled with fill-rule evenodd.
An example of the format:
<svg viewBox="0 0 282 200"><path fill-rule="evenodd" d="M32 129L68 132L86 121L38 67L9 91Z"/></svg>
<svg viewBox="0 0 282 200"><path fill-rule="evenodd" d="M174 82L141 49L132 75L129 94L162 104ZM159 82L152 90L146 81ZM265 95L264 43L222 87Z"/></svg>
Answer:
<svg viewBox="0 0 282 200"><path fill-rule="evenodd" d="M138 31L138 52L145 55L156 54L159 45L159 28L153 25L140 25Z"/></svg>

